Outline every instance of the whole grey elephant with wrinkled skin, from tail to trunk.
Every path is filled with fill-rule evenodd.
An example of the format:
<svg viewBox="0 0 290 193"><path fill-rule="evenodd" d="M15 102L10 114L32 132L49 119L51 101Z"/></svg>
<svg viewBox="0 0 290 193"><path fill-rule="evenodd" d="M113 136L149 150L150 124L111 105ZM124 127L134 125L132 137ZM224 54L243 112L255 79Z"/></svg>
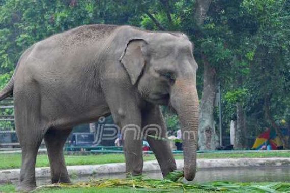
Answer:
<svg viewBox="0 0 290 193"><path fill-rule="evenodd" d="M18 190L36 187L35 161L42 139L48 150L52 183L69 183L63 146L73 126L112 114L121 128L158 124L165 137L159 105L168 104L179 115L185 178L193 180L199 109L192 49L181 33L85 25L26 50L12 79L0 92L0 100L12 94L14 97L15 127L22 148ZM167 142L147 140L163 176L175 170ZM124 153L127 172L141 174L142 144L134 139L133 131L126 133Z"/></svg>

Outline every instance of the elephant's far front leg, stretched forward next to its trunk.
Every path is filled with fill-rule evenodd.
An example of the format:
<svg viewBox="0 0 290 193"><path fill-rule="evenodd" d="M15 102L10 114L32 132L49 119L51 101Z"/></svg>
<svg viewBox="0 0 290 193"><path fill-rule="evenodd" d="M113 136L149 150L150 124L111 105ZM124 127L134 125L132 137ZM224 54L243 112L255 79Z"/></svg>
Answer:
<svg viewBox="0 0 290 193"><path fill-rule="evenodd" d="M142 126L144 135L146 135L150 148L158 160L163 177L165 177L169 172L176 170L176 162L169 143L168 141L147 136L167 137L166 124L159 106L147 106L147 109L142 112Z"/></svg>

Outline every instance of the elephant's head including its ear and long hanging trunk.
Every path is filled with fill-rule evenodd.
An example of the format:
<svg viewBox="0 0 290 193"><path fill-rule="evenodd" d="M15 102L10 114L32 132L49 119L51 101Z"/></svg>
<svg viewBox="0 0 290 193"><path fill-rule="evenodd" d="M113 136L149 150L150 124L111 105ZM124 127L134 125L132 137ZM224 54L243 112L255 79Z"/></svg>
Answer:
<svg viewBox="0 0 290 193"><path fill-rule="evenodd" d="M197 63L186 35L150 33L127 41L121 62L142 98L159 105L170 104L178 113L184 151L184 174L189 181L196 172L199 103L196 91Z"/></svg>

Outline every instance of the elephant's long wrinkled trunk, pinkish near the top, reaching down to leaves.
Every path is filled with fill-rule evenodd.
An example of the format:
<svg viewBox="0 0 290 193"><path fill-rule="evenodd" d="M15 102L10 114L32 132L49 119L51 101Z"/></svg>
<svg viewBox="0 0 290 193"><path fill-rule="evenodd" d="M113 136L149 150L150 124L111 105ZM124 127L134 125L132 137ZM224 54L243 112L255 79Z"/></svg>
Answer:
<svg viewBox="0 0 290 193"><path fill-rule="evenodd" d="M171 105L178 113L184 155L184 177L192 181L196 173L199 103L195 81L176 81L171 90Z"/></svg>

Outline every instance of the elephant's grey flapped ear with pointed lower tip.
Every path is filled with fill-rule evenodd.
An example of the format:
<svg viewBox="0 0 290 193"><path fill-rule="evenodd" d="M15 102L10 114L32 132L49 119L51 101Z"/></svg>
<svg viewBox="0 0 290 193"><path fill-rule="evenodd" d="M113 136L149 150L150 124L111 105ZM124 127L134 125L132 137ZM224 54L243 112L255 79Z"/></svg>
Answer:
<svg viewBox="0 0 290 193"><path fill-rule="evenodd" d="M136 84L145 66L145 57L142 47L147 44L144 39L131 38L127 41L120 61L127 70L132 85Z"/></svg>

